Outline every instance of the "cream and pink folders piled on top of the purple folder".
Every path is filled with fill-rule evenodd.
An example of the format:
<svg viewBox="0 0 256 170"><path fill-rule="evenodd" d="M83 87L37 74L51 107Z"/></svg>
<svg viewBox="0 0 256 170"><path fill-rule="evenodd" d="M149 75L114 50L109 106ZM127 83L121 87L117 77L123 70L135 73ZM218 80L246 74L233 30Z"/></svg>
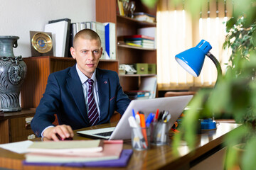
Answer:
<svg viewBox="0 0 256 170"><path fill-rule="evenodd" d="M33 142L26 154L27 163L78 163L119 159L122 140L73 140Z"/></svg>

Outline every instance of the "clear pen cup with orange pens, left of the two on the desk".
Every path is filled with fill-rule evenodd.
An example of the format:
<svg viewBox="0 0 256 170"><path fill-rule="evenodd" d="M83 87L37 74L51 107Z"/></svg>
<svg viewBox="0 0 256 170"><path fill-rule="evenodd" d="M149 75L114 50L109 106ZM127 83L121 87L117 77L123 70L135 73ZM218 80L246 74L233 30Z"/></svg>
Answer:
<svg viewBox="0 0 256 170"><path fill-rule="evenodd" d="M149 128L132 128L132 148L146 150L150 147Z"/></svg>

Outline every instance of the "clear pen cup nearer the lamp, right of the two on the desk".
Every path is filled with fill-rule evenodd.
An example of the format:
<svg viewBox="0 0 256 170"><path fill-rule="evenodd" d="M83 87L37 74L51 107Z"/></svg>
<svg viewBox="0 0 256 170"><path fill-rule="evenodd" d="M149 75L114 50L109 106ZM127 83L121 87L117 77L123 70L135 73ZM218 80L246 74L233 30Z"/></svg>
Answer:
<svg viewBox="0 0 256 170"><path fill-rule="evenodd" d="M153 138L151 139L152 145L168 145L169 139L169 127L168 123L158 122L154 125Z"/></svg>

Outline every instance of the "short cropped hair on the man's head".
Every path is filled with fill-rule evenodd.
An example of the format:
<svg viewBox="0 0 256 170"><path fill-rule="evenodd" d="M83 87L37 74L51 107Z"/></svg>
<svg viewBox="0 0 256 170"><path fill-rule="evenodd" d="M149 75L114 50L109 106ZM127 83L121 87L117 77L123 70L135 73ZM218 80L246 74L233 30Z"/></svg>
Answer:
<svg viewBox="0 0 256 170"><path fill-rule="evenodd" d="M76 33L75 38L73 40L73 47L75 47L75 42L78 40L78 38L82 38L85 40L99 40L101 46L100 36L94 30L83 29Z"/></svg>

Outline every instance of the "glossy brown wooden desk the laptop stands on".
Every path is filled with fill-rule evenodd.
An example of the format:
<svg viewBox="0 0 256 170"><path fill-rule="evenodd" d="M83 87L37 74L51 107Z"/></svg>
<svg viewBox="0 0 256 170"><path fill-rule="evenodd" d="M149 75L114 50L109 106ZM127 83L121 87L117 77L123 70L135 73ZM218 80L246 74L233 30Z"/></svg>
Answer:
<svg viewBox="0 0 256 170"><path fill-rule="evenodd" d="M97 127L85 128L95 129L114 126L114 123L110 125L98 125ZM171 146L152 146L148 151L134 151L129 164L126 168L122 169L189 169L193 162L196 162L202 157L206 157L206 154L213 154L221 148L225 135L231 130L238 128L240 125L235 123L220 123L217 130L209 130L202 132L198 135L196 142L196 149L194 152L189 152L188 147L183 145L180 150L180 156L174 157L173 148ZM83 129L84 130L84 129ZM76 132L77 130L75 130ZM74 140L86 139L75 135ZM124 142L124 149L130 149L131 143L129 141ZM22 160L23 154L16 154L0 148L0 167L9 169L80 169L64 166L23 166ZM92 168L85 168L92 169ZM93 168L100 169L100 168ZM104 168L112 169L112 168ZM115 168L116 169L116 168Z"/></svg>

